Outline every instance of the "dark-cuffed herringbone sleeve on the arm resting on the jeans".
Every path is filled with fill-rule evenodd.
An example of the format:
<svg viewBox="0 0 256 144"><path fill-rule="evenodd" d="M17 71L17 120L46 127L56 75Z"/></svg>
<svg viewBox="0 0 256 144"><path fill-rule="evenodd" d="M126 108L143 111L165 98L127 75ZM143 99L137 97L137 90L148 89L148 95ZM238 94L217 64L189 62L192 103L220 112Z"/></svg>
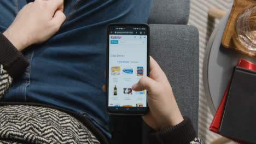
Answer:
<svg viewBox="0 0 256 144"><path fill-rule="evenodd" d="M0 33L0 99L28 66L27 59Z"/></svg>

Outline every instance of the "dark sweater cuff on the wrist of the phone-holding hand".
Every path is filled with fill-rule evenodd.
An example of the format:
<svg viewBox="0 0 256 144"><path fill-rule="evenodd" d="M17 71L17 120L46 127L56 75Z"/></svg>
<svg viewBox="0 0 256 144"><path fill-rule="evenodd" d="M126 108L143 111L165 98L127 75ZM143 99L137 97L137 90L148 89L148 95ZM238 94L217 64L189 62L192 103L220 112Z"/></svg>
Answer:
<svg viewBox="0 0 256 144"><path fill-rule="evenodd" d="M203 143L202 140L196 136L193 124L188 117L184 117L184 121L174 127L151 133L149 140L150 143Z"/></svg>

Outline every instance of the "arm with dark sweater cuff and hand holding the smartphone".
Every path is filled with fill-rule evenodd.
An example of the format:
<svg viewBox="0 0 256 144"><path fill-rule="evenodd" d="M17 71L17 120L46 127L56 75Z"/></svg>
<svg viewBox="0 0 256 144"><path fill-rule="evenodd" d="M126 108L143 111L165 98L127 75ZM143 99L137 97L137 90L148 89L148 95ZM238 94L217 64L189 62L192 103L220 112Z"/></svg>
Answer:
<svg viewBox="0 0 256 144"><path fill-rule="evenodd" d="M172 87L158 63L150 57L149 77L143 76L132 86L134 91L148 91L149 113L142 116L154 131L150 143L203 143L197 137L190 118L183 117L174 98Z"/></svg>

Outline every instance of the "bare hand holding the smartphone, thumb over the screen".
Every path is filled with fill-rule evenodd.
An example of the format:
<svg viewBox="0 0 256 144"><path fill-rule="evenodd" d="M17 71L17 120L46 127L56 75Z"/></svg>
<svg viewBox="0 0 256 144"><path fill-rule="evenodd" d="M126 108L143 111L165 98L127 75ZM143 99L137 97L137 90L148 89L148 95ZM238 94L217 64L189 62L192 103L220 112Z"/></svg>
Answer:
<svg viewBox="0 0 256 144"><path fill-rule="evenodd" d="M167 77L150 57L149 77L143 76L132 86L133 91L148 91L149 113L142 116L144 122L155 130L162 130L181 123L184 119L173 96L172 87Z"/></svg>

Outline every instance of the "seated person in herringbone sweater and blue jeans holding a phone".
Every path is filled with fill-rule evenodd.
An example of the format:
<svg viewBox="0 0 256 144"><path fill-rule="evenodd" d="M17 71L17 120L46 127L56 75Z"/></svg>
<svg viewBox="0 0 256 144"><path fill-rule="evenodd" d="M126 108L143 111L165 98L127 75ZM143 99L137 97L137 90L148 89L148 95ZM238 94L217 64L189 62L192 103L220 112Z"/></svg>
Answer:
<svg viewBox="0 0 256 144"><path fill-rule="evenodd" d="M89 14L95 13L100 9L98 5L109 9L117 5L126 7L130 2L65 2L0 2L0 13L3 13L0 16L0 30L3 32L0 33L0 143L109 143L111 134L109 128L104 127L109 124L109 118L104 105L101 106L104 100L100 99L104 94L90 91L101 87L98 80L102 77L97 74L104 68L100 58L104 46L88 35L101 33L96 29L91 31L92 25L102 31L111 21L94 20L96 25L90 23L91 17L88 17L88 25L81 26L85 23L79 24L81 19L76 16L83 15L83 9L89 9ZM139 5L150 6L150 2L137 3L141 4L132 4L133 8L118 14L115 21L126 22L131 18L130 13L133 14L132 9ZM94 4L98 4L97 8L92 6ZM64 5L71 6L64 9ZM14 11L21 9L13 22L8 19L15 14L8 11L11 8ZM148 15L149 10L146 11ZM147 19L147 16L140 19L144 12L136 13L138 22ZM88 30L87 36L85 29ZM81 35L85 36L81 39ZM98 39L104 38L99 36ZM92 63L81 64L79 58ZM88 70L93 72L92 77L84 76ZM86 90L80 91L83 88ZM106 86L102 88L106 91ZM150 76L142 77L132 89L147 89L149 92L149 113L143 119L156 130L150 139L156 143L202 143L196 137L190 119L179 112L170 83L152 57ZM85 108L81 110L80 107Z"/></svg>

